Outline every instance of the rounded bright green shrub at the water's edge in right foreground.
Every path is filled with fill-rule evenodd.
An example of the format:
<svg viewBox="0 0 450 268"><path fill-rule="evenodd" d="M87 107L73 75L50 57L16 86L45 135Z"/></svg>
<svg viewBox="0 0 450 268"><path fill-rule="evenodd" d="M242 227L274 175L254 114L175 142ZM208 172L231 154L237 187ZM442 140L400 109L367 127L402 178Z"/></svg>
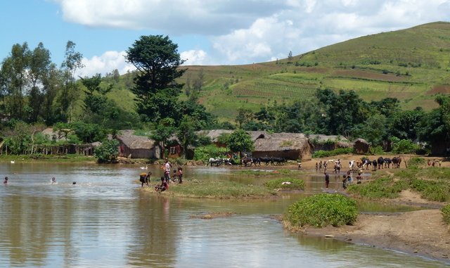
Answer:
<svg viewBox="0 0 450 268"><path fill-rule="evenodd" d="M340 194L321 193L290 205L285 220L293 226L324 227L353 224L357 216L355 200Z"/></svg>

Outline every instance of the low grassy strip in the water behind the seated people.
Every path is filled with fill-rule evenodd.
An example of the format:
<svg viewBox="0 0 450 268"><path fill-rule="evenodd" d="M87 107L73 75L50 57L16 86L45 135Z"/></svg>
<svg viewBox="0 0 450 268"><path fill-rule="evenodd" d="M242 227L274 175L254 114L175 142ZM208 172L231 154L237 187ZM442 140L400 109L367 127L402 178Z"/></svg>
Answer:
<svg viewBox="0 0 450 268"><path fill-rule="evenodd" d="M264 186L233 181L186 181L183 184L171 185L167 193L181 197L220 199L264 198L276 195L276 191Z"/></svg>

